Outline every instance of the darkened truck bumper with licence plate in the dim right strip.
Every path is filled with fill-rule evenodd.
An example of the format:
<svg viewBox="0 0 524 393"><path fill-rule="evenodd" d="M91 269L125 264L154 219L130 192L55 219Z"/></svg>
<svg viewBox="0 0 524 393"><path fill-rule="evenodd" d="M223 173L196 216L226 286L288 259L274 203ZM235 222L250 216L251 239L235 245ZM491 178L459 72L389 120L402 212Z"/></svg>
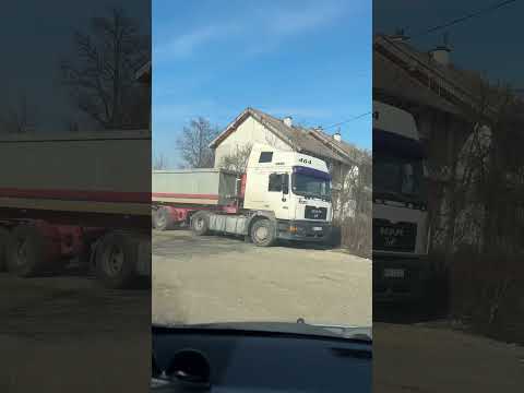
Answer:
<svg viewBox="0 0 524 393"><path fill-rule="evenodd" d="M413 302L422 299L430 278L425 257L373 254L373 302Z"/></svg>

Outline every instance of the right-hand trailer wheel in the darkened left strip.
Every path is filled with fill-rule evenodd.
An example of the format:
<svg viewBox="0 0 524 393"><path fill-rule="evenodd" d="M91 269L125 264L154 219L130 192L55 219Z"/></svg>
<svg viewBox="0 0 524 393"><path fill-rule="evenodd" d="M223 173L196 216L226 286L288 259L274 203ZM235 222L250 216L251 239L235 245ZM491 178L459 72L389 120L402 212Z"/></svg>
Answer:
<svg viewBox="0 0 524 393"><path fill-rule="evenodd" d="M96 253L96 275L111 289L130 287L135 278L138 247L126 234L109 234Z"/></svg>

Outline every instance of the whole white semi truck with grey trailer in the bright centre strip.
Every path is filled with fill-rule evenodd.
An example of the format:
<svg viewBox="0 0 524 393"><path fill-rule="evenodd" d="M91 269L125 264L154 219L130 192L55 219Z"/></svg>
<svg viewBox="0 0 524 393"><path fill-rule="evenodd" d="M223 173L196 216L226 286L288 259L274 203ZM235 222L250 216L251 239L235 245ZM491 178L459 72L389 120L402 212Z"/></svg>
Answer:
<svg viewBox="0 0 524 393"><path fill-rule="evenodd" d="M153 225L189 225L196 235L240 235L257 246L331 236L331 176L319 158L254 144L245 174L153 171Z"/></svg>

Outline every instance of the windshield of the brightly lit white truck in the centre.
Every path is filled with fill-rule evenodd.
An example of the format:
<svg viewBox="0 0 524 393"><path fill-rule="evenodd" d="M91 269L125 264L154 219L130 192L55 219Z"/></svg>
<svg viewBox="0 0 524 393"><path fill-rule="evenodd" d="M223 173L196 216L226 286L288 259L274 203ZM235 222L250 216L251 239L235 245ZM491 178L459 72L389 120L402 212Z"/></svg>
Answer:
<svg viewBox="0 0 524 393"><path fill-rule="evenodd" d="M291 178L293 192L297 195L331 199L330 175L320 170L296 167Z"/></svg>

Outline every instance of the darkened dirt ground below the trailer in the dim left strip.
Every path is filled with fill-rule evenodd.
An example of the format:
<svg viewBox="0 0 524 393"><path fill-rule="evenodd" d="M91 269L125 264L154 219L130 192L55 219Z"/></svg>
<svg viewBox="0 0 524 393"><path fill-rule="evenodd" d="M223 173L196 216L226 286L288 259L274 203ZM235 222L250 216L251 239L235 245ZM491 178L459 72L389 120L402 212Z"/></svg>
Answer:
<svg viewBox="0 0 524 393"><path fill-rule="evenodd" d="M146 392L148 290L0 274L0 392Z"/></svg>

